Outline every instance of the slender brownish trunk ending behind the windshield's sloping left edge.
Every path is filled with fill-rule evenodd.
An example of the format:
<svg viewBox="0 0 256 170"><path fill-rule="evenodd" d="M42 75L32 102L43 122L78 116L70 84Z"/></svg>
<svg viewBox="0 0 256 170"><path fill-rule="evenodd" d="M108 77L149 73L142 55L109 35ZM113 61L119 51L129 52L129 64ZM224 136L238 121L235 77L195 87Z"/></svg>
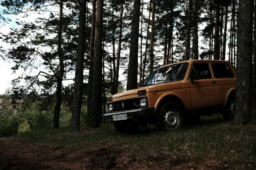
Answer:
<svg viewBox="0 0 256 170"><path fill-rule="evenodd" d="M150 37L150 66L149 74L153 72L154 66L154 32L155 32L155 0L152 0L152 22L151 22L151 37Z"/></svg>

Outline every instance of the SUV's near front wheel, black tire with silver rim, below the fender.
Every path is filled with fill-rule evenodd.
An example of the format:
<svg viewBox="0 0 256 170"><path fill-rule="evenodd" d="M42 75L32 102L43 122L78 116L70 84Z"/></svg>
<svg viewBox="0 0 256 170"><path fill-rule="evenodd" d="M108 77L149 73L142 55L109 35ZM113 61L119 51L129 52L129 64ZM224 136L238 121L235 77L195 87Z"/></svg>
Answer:
<svg viewBox="0 0 256 170"><path fill-rule="evenodd" d="M163 104L157 112L155 126L159 130L180 129L184 124L184 117L179 105L173 102Z"/></svg>

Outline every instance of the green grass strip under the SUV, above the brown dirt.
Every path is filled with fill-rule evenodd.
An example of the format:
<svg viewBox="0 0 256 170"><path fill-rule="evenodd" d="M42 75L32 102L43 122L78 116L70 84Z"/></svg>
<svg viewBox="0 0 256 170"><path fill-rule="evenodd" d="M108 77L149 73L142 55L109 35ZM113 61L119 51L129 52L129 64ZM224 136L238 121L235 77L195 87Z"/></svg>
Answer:
<svg viewBox="0 0 256 170"><path fill-rule="evenodd" d="M106 123L96 129L81 128L77 134L68 132L68 127L42 129L17 137L29 143L61 146L69 152L106 146L126 148L131 161L146 160L148 166L155 158L168 159L172 164L184 157L212 157L223 166L256 168L256 124L234 126L231 121L223 121L220 114L201 116L200 124L176 131L159 132L147 126L136 134L119 134L113 124Z"/></svg>

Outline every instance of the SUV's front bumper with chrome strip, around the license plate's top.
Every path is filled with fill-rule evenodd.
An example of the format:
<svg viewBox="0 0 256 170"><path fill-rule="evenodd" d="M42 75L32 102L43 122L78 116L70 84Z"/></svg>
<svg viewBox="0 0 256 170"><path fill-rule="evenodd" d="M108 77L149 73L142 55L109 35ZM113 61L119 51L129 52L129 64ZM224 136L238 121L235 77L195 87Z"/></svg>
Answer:
<svg viewBox="0 0 256 170"><path fill-rule="evenodd" d="M113 120L114 115L127 114L127 119L132 119L134 117L149 117L155 114L155 107L136 109L136 110L126 110L122 112L106 113L102 115L102 119Z"/></svg>

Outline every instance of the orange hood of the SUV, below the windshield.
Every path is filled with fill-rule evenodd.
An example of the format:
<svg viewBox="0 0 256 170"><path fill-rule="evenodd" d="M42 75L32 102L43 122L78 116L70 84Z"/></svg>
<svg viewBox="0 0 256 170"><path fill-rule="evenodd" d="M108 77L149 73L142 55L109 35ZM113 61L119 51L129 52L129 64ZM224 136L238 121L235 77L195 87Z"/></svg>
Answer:
<svg viewBox="0 0 256 170"><path fill-rule="evenodd" d="M162 91L162 90L179 89L179 88L182 87L182 84L183 83L180 82L180 81L168 82L168 83L159 83L159 84L154 84L154 85L151 85L151 86L141 87L141 88L137 88L137 89L117 93L117 94L114 94L110 97L113 97L113 99L114 99L114 98L118 98L118 97L122 97L122 96L137 94L138 91L141 91L141 90L146 90L146 92L156 92L156 91Z"/></svg>

